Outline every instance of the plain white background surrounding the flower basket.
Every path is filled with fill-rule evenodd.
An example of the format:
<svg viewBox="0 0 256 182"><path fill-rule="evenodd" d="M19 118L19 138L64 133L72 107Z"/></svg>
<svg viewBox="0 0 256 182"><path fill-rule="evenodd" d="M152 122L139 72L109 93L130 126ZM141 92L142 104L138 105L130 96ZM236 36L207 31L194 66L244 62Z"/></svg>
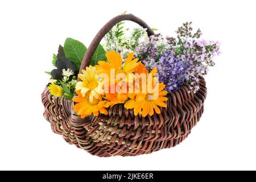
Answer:
<svg viewBox="0 0 256 182"><path fill-rule="evenodd" d="M0 169L256 169L255 1L0 1ZM52 53L90 41L127 10L163 35L192 21L222 55L206 77L205 112L179 146L137 157L98 158L52 133L40 94ZM134 26L133 23L127 25Z"/></svg>

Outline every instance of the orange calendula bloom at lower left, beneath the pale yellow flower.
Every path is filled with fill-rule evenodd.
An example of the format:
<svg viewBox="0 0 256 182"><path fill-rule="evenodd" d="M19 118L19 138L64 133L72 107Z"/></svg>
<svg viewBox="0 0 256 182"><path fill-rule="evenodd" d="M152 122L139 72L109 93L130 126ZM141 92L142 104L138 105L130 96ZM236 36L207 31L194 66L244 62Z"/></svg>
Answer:
<svg viewBox="0 0 256 182"><path fill-rule="evenodd" d="M108 101L101 101L100 100L93 98L93 101L89 101L89 95L90 93L86 93L85 97L82 96L81 91L77 91L77 97L73 98L74 102L77 102L73 106L73 109L77 112L77 115L81 115L81 118L85 118L88 115L93 115L97 116L99 113L101 114L108 114L108 111L105 109L105 104Z"/></svg>

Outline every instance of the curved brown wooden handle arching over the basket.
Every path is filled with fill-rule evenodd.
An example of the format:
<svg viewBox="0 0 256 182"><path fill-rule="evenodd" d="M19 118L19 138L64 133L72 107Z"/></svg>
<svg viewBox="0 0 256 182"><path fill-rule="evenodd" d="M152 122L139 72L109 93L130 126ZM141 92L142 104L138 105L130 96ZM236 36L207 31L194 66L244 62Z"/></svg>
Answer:
<svg viewBox="0 0 256 182"><path fill-rule="evenodd" d="M122 22L123 20L129 20L131 22L138 23L143 28L147 28L147 35L151 36L154 35L154 31L145 23L141 18L138 18L137 16L134 16L133 14L123 14L115 16L113 19L109 20L108 23L106 23L101 30L98 32L98 34L94 37L92 40L92 43L90 43L90 46L88 47L84 59L82 59L81 67L79 70L79 73L82 73L82 69L85 69L89 66L90 59L92 59L93 53L98 47L98 44L100 44L101 39L104 38L104 36L111 30L112 27L115 26L118 22ZM80 79L79 79L80 81Z"/></svg>

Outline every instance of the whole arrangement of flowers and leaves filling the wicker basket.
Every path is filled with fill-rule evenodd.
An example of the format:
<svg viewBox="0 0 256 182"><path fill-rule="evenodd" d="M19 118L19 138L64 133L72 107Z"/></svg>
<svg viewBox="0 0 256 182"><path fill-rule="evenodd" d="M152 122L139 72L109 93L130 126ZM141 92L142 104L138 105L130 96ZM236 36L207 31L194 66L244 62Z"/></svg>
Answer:
<svg viewBox="0 0 256 182"><path fill-rule="evenodd" d="M148 37L142 27L126 36L128 29L123 24L117 23L105 35L105 44L97 47L81 74L84 44L67 38L53 55L56 68L47 72L51 75L49 92L76 102L73 109L82 118L108 114L106 108L117 104L142 117L159 114L159 107L167 106L168 92L184 84L197 92L199 78L207 75L208 68L215 65L214 56L220 54L220 43L201 39L201 30L193 33L191 22L177 28L175 38L160 34Z"/></svg>

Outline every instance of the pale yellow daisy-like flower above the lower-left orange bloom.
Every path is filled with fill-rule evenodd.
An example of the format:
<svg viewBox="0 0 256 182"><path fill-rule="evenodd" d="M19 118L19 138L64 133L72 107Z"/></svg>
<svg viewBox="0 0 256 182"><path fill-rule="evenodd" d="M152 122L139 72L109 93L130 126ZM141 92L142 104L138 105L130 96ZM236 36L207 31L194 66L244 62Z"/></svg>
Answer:
<svg viewBox="0 0 256 182"><path fill-rule="evenodd" d="M89 100L93 102L93 98L99 99L101 94L104 93L102 89L103 82L98 80L98 75L96 74L96 68L90 65L86 67L86 70L82 70L82 74L78 77L82 80L77 82L76 90L81 90L81 94L85 97L85 94L90 91Z"/></svg>

